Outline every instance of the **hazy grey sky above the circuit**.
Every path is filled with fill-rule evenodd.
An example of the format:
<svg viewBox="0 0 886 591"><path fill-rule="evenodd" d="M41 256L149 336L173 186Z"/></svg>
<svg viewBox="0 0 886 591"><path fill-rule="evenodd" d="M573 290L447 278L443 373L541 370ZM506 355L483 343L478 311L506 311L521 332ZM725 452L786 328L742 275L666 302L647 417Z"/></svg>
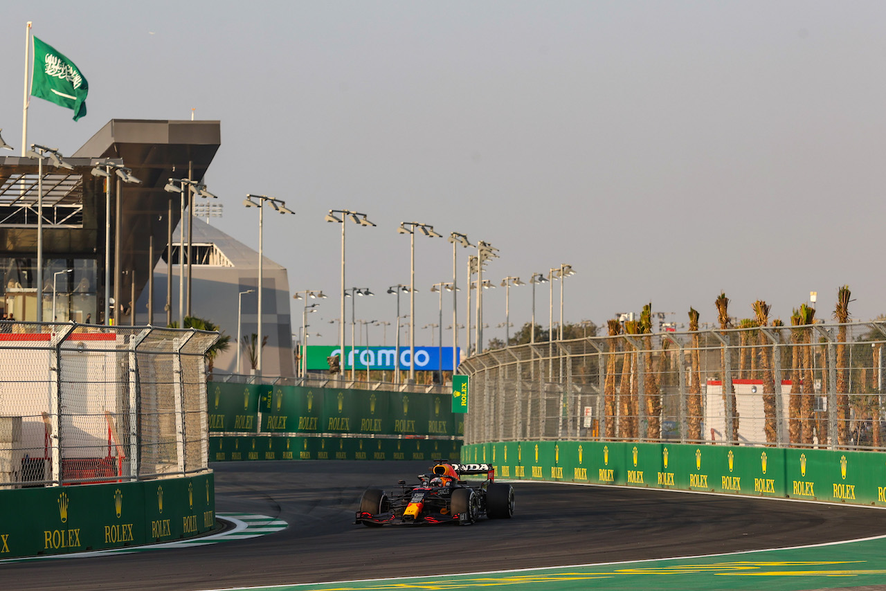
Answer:
<svg viewBox="0 0 886 591"><path fill-rule="evenodd" d="M376 293L356 301L362 319L394 322L400 222L494 245L496 285L571 264L572 323L650 300L669 322L690 306L714 322L720 291L738 318L766 299L785 323L817 291L830 319L842 284L853 317L886 313L886 3L9 3L0 127L17 149L27 20L89 80L76 123L32 99L28 142L70 154L113 118L220 120L212 223L257 248L246 193L296 211L265 216L264 248L292 291L330 295L315 344L336 338L330 208L377 223L347 228L347 286ZM452 245L416 236L416 329L437 322L431 284L451 280ZM537 289L544 325L548 296ZM484 302L485 340L503 338L505 290ZM513 330L531 307L530 286L510 290ZM445 328L448 294L443 309Z"/></svg>

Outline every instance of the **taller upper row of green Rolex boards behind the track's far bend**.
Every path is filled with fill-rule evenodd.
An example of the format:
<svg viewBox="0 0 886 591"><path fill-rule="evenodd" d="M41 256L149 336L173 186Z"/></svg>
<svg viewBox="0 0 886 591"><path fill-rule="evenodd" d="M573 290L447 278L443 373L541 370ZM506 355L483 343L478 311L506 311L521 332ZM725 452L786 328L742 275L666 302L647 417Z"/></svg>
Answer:
<svg viewBox="0 0 886 591"><path fill-rule="evenodd" d="M459 437L446 394L210 382L210 432ZM259 421L260 411L260 421Z"/></svg>

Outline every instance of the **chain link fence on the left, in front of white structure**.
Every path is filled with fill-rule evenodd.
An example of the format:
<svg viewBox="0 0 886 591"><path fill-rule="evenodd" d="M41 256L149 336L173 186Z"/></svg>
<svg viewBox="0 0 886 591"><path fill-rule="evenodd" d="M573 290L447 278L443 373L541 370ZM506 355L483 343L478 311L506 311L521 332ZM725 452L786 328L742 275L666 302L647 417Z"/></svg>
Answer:
<svg viewBox="0 0 886 591"><path fill-rule="evenodd" d="M207 469L218 333L0 322L0 489Z"/></svg>

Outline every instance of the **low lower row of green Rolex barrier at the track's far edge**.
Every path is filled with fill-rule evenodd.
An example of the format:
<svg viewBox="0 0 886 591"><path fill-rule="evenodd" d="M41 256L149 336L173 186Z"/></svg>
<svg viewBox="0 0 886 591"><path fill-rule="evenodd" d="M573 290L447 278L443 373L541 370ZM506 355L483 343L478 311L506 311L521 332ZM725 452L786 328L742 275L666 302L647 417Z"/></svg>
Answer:
<svg viewBox="0 0 886 591"><path fill-rule="evenodd" d="M284 437L275 435L210 438L214 462L259 460L448 460L458 458L461 439L373 439L363 437Z"/></svg>

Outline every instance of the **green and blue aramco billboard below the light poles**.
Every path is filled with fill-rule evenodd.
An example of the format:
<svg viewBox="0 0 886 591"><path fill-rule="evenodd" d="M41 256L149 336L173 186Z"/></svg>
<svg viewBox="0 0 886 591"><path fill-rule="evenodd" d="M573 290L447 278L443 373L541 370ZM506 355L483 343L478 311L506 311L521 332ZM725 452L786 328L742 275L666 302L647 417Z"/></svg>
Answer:
<svg viewBox="0 0 886 591"><path fill-rule="evenodd" d="M333 355L341 357L341 369L394 369L397 359L397 348L393 346L345 346L345 354L341 354L338 346L307 346L307 369L329 369L327 359ZM456 359L460 359L459 349L455 349ZM400 346L400 369L409 369L409 347ZM442 356L442 367L440 357ZM452 371L451 346L416 346L416 370L418 371Z"/></svg>

